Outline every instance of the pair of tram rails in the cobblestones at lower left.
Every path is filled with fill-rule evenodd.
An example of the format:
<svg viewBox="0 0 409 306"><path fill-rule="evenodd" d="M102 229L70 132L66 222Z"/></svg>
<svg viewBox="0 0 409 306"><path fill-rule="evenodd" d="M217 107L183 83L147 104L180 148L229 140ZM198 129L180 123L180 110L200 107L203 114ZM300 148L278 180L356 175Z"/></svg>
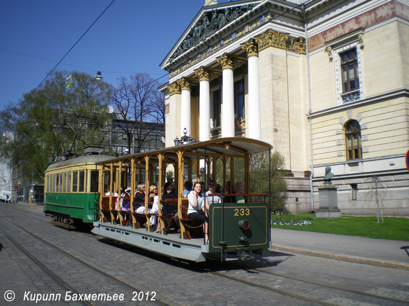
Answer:
<svg viewBox="0 0 409 306"><path fill-rule="evenodd" d="M29 230L27 230L26 228L18 225L18 224L14 224L14 222L8 220L8 218L3 218L2 220L6 220L7 222L11 223L12 225L16 226L17 228L19 228L21 231L24 231L25 233L29 234L31 237L34 237L35 239L37 239L38 241L40 241L43 244L46 244L49 247L52 247L54 250L57 250L58 252L60 252L61 254L63 254L65 257L69 257L72 260L80 263L81 265L83 265L84 267L86 267L87 269L92 269L93 271L97 272L99 275L107 278L109 281L115 282L116 284L120 285L122 288L125 288L127 290L131 290L132 292L144 292L143 290L140 290L137 287L134 287L132 285L129 285L126 282L121 281L121 279L112 276L86 262L84 262L83 260L81 260L80 258L74 256L73 254L70 254L69 252L61 249L58 246L55 246L54 244L42 239L41 237L37 236L36 234L30 232ZM33 256L33 254L30 253L29 250L27 250L24 246L22 246L20 243L18 243L15 239L13 239L8 233L6 233L3 229L0 229L0 231L3 233L3 235L5 237L7 237L7 239L9 239L18 249L20 249L22 252L24 252L26 254L27 257L29 257L36 265L38 265L44 272L46 272L48 275L50 275L53 279L55 279L55 281L57 283L59 283L64 289L67 289L73 293L78 294L78 290L75 290L74 288L72 288L72 286L70 286L69 284L67 284L67 282L64 282L56 273L52 272L51 269L49 269L46 265L44 265L43 263L41 263L41 261ZM98 278L99 282L101 282L101 278ZM150 298L155 298L154 300L152 300L152 302L154 302L157 305L162 305L162 306L170 306L171 304L168 304L164 301L162 301L161 299L156 299L157 296L152 296L151 294L146 295L147 296L147 300ZM88 301L80 301L83 305L86 306L93 306L93 303L90 303ZM146 301L145 301L146 302Z"/></svg>

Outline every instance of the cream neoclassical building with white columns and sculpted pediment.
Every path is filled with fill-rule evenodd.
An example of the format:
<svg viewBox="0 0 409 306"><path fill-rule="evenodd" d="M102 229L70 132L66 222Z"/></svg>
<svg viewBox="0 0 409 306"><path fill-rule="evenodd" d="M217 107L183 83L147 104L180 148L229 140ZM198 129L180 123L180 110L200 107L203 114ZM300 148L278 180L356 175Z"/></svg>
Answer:
<svg viewBox="0 0 409 306"><path fill-rule="evenodd" d="M409 2L207 0L161 67L166 146L249 137L284 157L291 212L409 214Z"/></svg>

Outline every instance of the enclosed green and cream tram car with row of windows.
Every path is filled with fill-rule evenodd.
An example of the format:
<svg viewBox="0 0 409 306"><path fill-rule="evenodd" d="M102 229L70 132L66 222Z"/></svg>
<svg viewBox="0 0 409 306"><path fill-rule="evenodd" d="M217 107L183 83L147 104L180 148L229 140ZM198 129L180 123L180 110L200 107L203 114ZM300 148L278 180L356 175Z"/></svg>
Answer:
<svg viewBox="0 0 409 306"><path fill-rule="evenodd" d="M105 155L83 155L51 164L44 177L44 208L53 224L65 228L92 227L98 221L99 200L96 163L112 159Z"/></svg>

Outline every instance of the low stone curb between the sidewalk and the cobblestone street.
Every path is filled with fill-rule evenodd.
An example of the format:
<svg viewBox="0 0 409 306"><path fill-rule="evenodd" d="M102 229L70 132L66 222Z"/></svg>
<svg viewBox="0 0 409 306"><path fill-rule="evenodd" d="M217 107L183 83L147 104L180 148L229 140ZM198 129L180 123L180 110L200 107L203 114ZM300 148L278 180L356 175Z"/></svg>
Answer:
<svg viewBox="0 0 409 306"><path fill-rule="evenodd" d="M350 263L358 263L358 264L365 264L365 265L378 266L378 267L409 270L409 264L400 263L400 262L388 262L388 261L382 261L382 260L377 260L377 259L372 259L372 258L363 258L363 257L349 256L349 255L343 255L343 254L328 254L328 253L321 253L321 252L312 251L312 250L291 248L291 247L285 247L285 246L279 246L279 245L271 245L270 249L278 250L278 251L285 251L285 252L290 252L290 253L303 254L307 256L340 260L340 261L345 261L345 262L350 262Z"/></svg>

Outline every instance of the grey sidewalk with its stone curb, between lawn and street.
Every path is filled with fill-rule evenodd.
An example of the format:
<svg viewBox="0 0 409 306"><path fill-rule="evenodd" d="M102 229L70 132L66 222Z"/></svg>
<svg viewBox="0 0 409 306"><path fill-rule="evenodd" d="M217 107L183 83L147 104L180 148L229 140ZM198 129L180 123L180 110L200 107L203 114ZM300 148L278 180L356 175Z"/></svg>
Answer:
<svg viewBox="0 0 409 306"><path fill-rule="evenodd" d="M409 230L409 229L408 229ZM409 270L409 241L271 228L271 249Z"/></svg>

